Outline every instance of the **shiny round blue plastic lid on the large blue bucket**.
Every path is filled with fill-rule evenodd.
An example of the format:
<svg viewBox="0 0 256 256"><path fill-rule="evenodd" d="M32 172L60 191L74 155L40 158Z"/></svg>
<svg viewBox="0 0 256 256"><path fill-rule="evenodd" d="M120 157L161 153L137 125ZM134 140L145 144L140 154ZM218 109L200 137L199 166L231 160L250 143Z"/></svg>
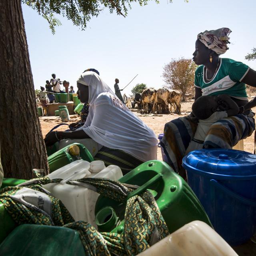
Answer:
<svg viewBox="0 0 256 256"><path fill-rule="evenodd" d="M194 150L182 159L182 166L188 172L221 180L256 178L256 155L240 150Z"/></svg>

